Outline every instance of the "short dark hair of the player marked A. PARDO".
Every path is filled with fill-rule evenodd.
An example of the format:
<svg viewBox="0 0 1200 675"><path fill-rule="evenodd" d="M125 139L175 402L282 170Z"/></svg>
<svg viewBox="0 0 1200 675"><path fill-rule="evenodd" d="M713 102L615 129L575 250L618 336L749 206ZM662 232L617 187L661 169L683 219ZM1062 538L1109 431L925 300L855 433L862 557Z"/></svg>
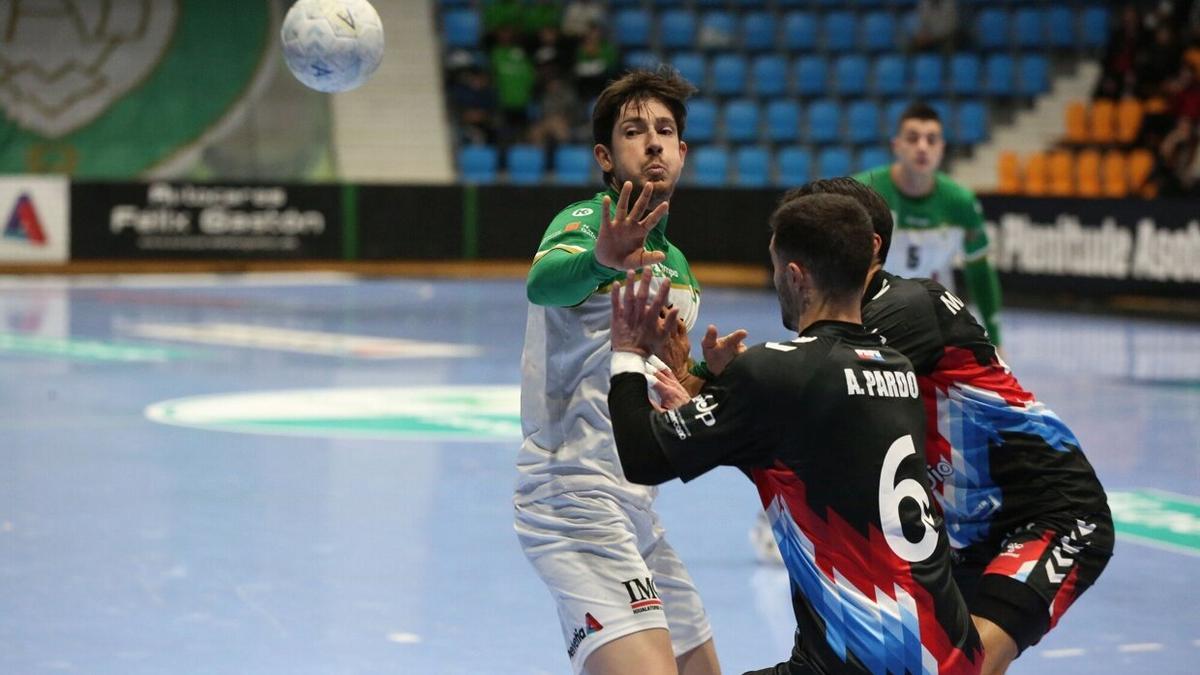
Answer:
<svg viewBox="0 0 1200 675"><path fill-rule="evenodd" d="M871 267L871 219L844 195L805 195L770 215L775 253L798 262L820 292L835 300L858 299Z"/></svg>

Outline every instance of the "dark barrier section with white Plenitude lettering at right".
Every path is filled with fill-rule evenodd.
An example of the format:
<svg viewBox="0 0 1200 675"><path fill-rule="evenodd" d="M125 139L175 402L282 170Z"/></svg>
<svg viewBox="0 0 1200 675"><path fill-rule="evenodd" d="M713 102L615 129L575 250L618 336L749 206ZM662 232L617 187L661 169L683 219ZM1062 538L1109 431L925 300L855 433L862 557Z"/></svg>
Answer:
<svg viewBox="0 0 1200 675"><path fill-rule="evenodd" d="M1200 298L1200 201L980 197L1004 291Z"/></svg>

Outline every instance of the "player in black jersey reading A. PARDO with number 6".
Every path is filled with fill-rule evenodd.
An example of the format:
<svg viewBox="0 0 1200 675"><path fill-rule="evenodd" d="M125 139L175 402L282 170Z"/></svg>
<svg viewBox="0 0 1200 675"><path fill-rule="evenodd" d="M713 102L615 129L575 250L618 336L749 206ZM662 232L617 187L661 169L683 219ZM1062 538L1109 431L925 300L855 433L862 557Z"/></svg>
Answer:
<svg viewBox="0 0 1200 675"><path fill-rule="evenodd" d="M798 623L791 658L760 673L978 673L919 454L916 374L860 323L869 217L821 195L770 223L784 324L799 335L751 347L682 407L654 412L643 375L676 310L660 318L661 292L647 305L644 274L613 291L608 407L625 477L686 482L725 465L755 482Z"/></svg>

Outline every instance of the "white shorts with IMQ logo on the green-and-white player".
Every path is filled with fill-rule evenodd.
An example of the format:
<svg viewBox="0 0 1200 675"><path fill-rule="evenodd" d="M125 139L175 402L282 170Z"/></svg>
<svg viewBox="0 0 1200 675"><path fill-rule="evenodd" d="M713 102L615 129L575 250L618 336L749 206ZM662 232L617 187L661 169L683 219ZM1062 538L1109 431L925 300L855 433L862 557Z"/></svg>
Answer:
<svg viewBox="0 0 1200 675"><path fill-rule="evenodd" d="M653 510L599 491L516 506L526 557L546 583L575 673L596 647L667 628L674 655L713 637L691 577Z"/></svg>

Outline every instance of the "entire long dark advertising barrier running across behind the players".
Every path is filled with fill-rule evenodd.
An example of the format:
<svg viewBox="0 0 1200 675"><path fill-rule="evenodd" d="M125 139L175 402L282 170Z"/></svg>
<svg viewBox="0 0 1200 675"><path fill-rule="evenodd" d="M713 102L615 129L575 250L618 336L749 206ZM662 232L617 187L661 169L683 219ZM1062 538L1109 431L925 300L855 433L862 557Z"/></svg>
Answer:
<svg viewBox="0 0 1200 675"><path fill-rule="evenodd" d="M596 189L71 185L72 259L532 259ZM682 189L668 235L694 262L768 264L774 190ZM1200 298L1200 202L984 196L1006 293Z"/></svg>

